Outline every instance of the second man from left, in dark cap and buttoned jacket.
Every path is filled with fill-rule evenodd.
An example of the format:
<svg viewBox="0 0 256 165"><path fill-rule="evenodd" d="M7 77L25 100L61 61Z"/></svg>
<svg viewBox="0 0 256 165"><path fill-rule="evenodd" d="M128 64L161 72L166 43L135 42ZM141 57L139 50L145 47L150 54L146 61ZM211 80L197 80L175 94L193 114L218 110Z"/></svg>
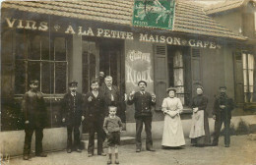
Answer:
<svg viewBox="0 0 256 165"><path fill-rule="evenodd" d="M74 130L74 147L77 152L80 149L80 131L81 122L85 119L83 114L82 94L77 92L78 83L73 81L69 83L69 92L64 95L62 100L62 122L66 123L68 139L67 152L72 152L72 132Z"/></svg>

